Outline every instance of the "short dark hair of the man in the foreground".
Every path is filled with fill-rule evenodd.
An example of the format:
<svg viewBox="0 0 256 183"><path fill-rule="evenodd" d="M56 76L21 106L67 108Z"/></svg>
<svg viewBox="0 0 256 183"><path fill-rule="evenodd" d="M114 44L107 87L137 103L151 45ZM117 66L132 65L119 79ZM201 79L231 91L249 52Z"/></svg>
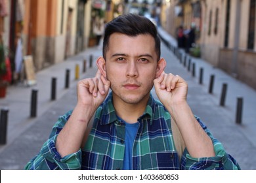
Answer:
<svg viewBox="0 0 256 183"><path fill-rule="evenodd" d="M156 54L158 60L161 55L161 43L160 37L158 37L158 30L156 25L154 25L148 18L139 16L137 14L125 14L118 16L111 22L106 24L106 29L104 33L103 41L103 57L106 59L106 52L108 50L108 44L110 40L110 35L113 33L122 33L131 37L136 37L140 34L149 34L155 40Z"/></svg>

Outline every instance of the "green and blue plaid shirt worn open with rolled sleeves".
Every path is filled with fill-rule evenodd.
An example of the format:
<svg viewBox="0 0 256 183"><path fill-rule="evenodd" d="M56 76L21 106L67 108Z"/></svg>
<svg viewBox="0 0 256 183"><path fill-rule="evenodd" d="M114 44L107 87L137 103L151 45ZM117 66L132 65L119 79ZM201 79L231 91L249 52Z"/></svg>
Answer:
<svg viewBox="0 0 256 183"><path fill-rule="evenodd" d="M125 123L117 119L112 93L96 110L85 147L62 158L56 150L56 137L71 114L72 111L58 119L49 140L25 168L121 169L125 153ZM192 158L185 149L180 162L171 133L170 114L150 95L146 110L138 119L140 125L133 144L133 169L240 169L236 160L225 152L223 145L199 118L196 119L211 137L216 156Z"/></svg>

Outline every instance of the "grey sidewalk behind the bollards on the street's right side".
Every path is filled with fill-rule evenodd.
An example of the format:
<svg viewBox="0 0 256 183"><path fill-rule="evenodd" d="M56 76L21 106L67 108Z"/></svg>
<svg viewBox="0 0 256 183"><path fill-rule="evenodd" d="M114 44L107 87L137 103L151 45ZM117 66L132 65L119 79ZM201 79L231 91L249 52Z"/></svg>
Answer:
<svg viewBox="0 0 256 183"><path fill-rule="evenodd" d="M177 47L177 41L171 37L171 35L166 33L163 29L161 29L161 27L158 29L158 31L161 37L165 39L165 41ZM180 49L180 52L182 53L182 59L184 59L184 55L186 55L186 64L188 64L188 58L191 58L192 63L196 64L196 77L194 80L196 80L198 83L200 77L200 68L203 68L202 90L204 92L209 92L210 77L211 75L215 75L213 93L209 94L209 97L213 99L215 105L219 106L219 110L223 110L224 114L229 118L230 122L234 124L236 123L237 98L242 97L244 99L244 105L242 108L242 124L237 125L237 127L241 129L241 131L247 137L248 141L250 141L253 146L256 146L256 91L240 80L236 80L236 78L233 78L232 76L224 73L224 71L221 69L213 67L213 65L207 63L207 61L204 61L200 58L192 58L188 56L184 50ZM184 60L182 60L182 64L183 63ZM188 66L186 65L186 67ZM224 83L228 85L224 107L221 107L220 100Z"/></svg>

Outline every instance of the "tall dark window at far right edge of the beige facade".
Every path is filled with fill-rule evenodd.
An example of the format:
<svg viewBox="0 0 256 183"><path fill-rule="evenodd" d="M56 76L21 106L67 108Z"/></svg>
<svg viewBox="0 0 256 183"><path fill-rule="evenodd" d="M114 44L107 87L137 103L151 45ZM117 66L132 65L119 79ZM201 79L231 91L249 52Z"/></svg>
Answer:
<svg viewBox="0 0 256 183"><path fill-rule="evenodd" d="M255 0L250 2L249 10L249 32L248 32L248 41L247 49L253 50L254 48L254 32L255 32Z"/></svg>

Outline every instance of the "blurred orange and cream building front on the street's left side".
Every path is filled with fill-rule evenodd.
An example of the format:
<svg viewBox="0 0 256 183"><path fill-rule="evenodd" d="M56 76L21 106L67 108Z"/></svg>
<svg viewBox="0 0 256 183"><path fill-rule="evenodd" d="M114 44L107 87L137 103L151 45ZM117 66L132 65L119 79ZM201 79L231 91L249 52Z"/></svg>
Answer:
<svg viewBox="0 0 256 183"><path fill-rule="evenodd" d="M83 49L84 1L25 0L25 12L24 53L33 56L36 70Z"/></svg>

